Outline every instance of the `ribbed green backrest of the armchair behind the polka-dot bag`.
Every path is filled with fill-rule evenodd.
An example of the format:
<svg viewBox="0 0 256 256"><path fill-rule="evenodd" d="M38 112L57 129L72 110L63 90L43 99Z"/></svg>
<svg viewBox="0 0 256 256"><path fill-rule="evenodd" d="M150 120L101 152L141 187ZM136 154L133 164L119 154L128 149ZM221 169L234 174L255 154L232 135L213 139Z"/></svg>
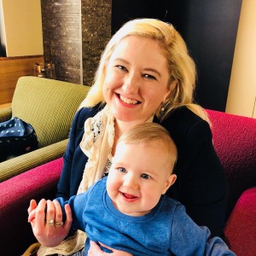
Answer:
<svg viewBox="0 0 256 256"><path fill-rule="evenodd" d="M39 148L43 148L68 137L74 113L88 90L81 84L21 77L12 101L12 116L34 127Z"/></svg>

